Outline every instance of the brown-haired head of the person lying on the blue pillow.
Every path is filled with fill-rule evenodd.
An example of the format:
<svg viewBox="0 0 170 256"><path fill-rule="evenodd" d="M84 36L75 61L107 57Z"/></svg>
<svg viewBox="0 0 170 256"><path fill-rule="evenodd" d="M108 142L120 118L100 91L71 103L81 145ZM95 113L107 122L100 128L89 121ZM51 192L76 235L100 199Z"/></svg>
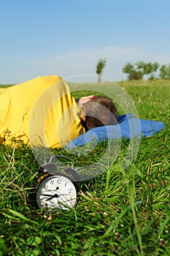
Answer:
<svg viewBox="0 0 170 256"><path fill-rule="evenodd" d="M85 108L85 129L101 127L104 125L117 124L117 108L112 99L104 96L95 96L94 99L86 102Z"/></svg>

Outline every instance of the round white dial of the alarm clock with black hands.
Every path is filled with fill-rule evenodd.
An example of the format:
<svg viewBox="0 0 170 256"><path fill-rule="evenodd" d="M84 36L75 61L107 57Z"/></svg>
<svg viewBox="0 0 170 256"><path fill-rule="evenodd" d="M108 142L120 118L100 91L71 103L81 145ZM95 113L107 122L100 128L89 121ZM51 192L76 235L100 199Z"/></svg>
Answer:
<svg viewBox="0 0 170 256"><path fill-rule="evenodd" d="M48 176L36 188L36 203L47 210L69 210L77 203L77 190L65 176Z"/></svg>

